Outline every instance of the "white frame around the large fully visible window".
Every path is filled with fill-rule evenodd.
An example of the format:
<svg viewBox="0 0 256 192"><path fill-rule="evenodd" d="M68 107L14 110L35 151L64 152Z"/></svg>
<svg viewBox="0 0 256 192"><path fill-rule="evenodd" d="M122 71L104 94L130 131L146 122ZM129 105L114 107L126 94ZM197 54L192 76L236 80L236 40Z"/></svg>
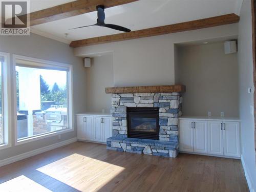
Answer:
<svg viewBox="0 0 256 192"><path fill-rule="evenodd" d="M67 74L67 89L68 89L67 97L68 97L69 129L63 130L63 131L54 131L54 132L48 132L48 133L45 133L45 134L39 134L39 135L31 136L31 137L28 137L28 138L24 138L24 139L21 139L21 140L17 138L16 60L25 60L25 61L29 61L29 62L40 63L40 65L42 65L42 66L47 66L49 68L52 67L55 70L58 69L58 68L61 70L61 69L63 69L63 67L69 69L69 71L67 71L67 73L68 73ZM13 103L14 103L13 114L14 114L14 117L15 117L15 120L14 120L13 123L14 123L15 146L74 131L73 66L72 65L69 65L69 64L66 64L66 63L61 63L61 62L50 61L50 60L37 59L37 58L27 57L27 56L22 56L22 55L13 55L13 74L12 75L13 75L13 79L15 79L15 80L13 80L13 91L14 91L13 92L14 93L13 94L14 95L14 98L13 98Z"/></svg>

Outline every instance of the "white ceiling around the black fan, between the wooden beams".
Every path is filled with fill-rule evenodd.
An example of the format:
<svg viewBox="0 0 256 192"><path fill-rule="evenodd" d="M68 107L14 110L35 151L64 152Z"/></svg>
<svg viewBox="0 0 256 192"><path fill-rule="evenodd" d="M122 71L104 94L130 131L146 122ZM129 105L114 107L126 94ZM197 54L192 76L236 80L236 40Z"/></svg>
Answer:
<svg viewBox="0 0 256 192"><path fill-rule="evenodd" d="M69 0L31 0L31 10L45 9ZM121 25L133 30L187 22L201 18L239 13L241 0L140 0L105 9L105 23ZM97 36L121 33L109 28L92 26L70 28L96 23L97 12L86 13L31 27L31 32L69 43ZM67 37L66 34L68 33Z"/></svg>

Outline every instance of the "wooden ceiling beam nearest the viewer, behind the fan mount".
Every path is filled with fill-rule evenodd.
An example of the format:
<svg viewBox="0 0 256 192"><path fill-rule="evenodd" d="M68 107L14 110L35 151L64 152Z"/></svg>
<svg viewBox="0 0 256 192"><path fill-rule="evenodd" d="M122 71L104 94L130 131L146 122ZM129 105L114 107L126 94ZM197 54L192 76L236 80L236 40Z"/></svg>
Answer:
<svg viewBox="0 0 256 192"><path fill-rule="evenodd" d="M109 8L136 1L138 0L77 0L30 13L30 26L96 11L97 5Z"/></svg>

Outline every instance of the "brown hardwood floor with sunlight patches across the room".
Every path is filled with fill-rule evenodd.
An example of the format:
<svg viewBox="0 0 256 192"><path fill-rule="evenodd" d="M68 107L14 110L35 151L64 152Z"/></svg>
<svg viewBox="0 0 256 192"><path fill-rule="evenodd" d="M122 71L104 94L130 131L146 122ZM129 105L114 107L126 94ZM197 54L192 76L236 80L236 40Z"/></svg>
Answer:
<svg viewBox="0 0 256 192"><path fill-rule="evenodd" d="M0 167L0 191L249 191L241 161L106 151L76 142Z"/></svg>

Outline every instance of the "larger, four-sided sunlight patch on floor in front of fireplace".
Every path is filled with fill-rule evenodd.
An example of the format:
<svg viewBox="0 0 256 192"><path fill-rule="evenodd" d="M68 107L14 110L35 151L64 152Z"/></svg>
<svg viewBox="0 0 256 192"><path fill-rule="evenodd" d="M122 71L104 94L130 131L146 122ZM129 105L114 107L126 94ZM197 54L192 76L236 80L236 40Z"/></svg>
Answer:
<svg viewBox="0 0 256 192"><path fill-rule="evenodd" d="M124 169L115 164L80 154L72 154L36 170L81 190L91 188L92 185L94 189L95 187L100 188Z"/></svg>

